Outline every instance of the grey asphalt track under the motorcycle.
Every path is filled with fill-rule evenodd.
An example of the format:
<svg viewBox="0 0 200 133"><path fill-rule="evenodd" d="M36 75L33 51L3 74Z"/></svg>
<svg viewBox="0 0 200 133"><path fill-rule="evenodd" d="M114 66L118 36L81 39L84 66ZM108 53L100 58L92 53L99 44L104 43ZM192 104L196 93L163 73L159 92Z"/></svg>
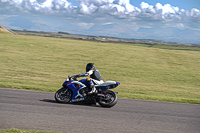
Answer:
<svg viewBox="0 0 200 133"><path fill-rule="evenodd" d="M59 104L54 93L0 88L0 129L200 133L200 105L119 99L112 108Z"/></svg>

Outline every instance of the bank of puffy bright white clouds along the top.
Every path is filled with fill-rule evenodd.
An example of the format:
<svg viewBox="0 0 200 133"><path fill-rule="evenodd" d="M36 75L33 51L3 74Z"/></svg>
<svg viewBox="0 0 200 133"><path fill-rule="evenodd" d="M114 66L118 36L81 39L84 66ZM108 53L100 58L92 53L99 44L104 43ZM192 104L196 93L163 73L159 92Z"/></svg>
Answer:
<svg viewBox="0 0 200 133"><path fill-rule="evenodd" d="M12 11L20 12L39 12L48 14L60 14L65 13L68 16L69 13L75 14L112 14L121 17L122 14L127 16L127 19L134 16L140 17L148 14L149 19L172 19L182 17L199 17L200 11L198 9L192 9L191 11L185 11L174 7L170 4L162 5L157 3L156 5L149 5L142 2L140 7L135 7L130 4L130 0L76 0L80 4L73 6L72 3L67 0L1 0L0 3L7 6L7 8L0 8L1 11L9 12L9 8ZM59 12L61 11L61 12ZM68 14L67 14L68 13ZM73 14L73 15L75 15ZM70 16L70 15L69 15ZM93 17L93 16L92 16Z"/></svg>

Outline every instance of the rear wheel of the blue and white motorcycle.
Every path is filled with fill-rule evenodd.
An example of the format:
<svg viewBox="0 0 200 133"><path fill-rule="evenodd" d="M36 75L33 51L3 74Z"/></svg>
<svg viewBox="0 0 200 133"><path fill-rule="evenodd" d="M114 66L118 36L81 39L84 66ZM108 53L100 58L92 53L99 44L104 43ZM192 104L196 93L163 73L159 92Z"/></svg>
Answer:
<svg viewBox="0 0 200 133"><path fill-rule="evenodd" d="M105 97L100 97L98 99L98 103L101 107L111 108L117 103L118 96L115 92L106 90L103 91L102 94L104 94Z"/></svg>

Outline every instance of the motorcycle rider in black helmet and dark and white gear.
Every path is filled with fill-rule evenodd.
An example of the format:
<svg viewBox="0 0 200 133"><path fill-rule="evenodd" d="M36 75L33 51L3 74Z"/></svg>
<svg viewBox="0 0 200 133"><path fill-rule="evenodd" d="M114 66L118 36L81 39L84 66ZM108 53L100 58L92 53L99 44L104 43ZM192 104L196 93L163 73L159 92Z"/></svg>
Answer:
<svg viewBox="0 0 200 133"><path fill-rule="evenodd" d="M95 85L102 84L104 82L101 78L100 72L95 69L94 63L88 63L86 65L86 73L79 74L78 76L90 76L90 78L87 78L87 81L90 83L90 88L92 90L88 94L96 93L97 90L95 88Z"/></svg>

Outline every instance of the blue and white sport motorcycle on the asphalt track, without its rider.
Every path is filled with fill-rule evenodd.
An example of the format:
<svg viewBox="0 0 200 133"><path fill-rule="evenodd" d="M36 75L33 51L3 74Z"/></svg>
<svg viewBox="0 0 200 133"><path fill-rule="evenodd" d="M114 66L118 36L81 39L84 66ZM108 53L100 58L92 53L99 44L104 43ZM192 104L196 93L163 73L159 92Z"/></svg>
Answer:
<svg viewBox="0 0 200 133"><path fill-rule="evenodd" d="M96 104L101 107L113 107L117 101L117 93L109 89L116 88L120 83L115 81L106 81L95 85L97 93L88 94L91 91L90 84L86 79L78 81L78 76L68 76L63 83L63 87L55 93L55 100L59 103L74 103L84 101L86 103Z"/></svg>

